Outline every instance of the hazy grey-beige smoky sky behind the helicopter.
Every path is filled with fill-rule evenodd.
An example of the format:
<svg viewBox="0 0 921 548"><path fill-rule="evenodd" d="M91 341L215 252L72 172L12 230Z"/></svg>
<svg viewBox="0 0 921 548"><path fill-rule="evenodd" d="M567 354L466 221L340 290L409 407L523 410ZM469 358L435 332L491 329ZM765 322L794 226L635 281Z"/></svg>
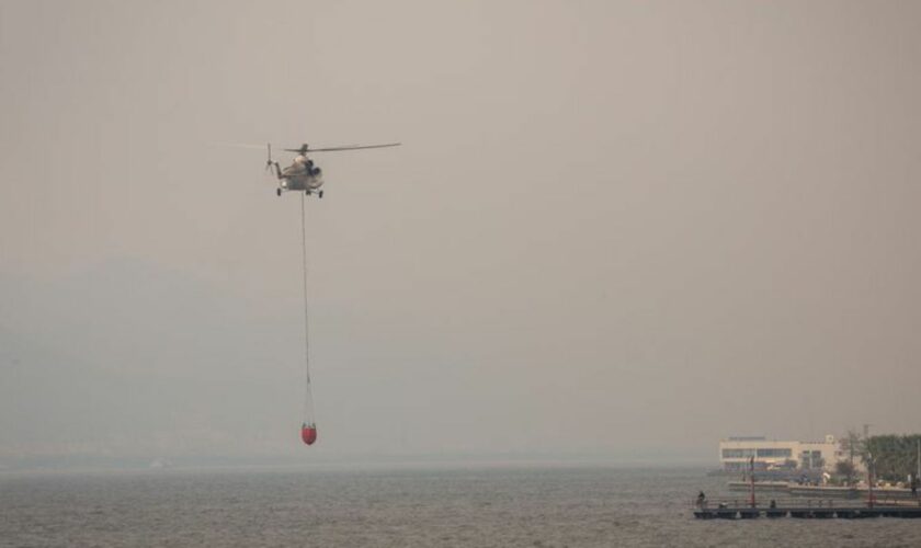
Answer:
<svg viewBox="0 0 921 548"><path fill-rule="evenodd" d="M0 1L0 463L917 432L919 59L908 1ZM405 144L316 158L309 449L266 140Z"/></svg>

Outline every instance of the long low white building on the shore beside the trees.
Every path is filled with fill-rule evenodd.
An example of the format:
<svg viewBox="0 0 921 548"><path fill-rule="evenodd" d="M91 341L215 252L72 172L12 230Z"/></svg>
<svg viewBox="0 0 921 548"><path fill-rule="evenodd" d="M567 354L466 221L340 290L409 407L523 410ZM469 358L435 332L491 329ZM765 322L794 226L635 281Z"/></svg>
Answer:
<svg viewBox="0 0 921 548"><path fill-rule="evenodd" d="M757 470L823 469L831 471L844 458L833 435L823 442L782 442L761 436L734 436L719 442L719 463L727 471L748 470L754 457Z"/></svg>

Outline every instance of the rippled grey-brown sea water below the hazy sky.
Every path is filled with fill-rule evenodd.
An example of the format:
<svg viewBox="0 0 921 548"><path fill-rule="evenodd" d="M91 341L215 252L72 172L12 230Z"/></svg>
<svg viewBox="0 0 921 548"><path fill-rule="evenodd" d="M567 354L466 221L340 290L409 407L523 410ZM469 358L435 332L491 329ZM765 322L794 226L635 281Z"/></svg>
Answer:
<svg viewBox="0 0 921 548"><path fill-rule="evenodd" d="M702 469L0 473L0 546L921 546L921 521L696 521Z"/></svg>

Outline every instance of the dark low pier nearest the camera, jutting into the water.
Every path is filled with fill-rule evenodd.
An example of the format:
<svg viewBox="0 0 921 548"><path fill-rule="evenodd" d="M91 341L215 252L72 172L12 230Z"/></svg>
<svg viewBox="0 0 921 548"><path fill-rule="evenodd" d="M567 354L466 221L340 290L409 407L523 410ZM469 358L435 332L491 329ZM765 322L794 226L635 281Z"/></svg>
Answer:
<svg viewBox="0 0 921 548"><path fill-rule="evenodd" d="M832 499L782 499L768 504L739 499L707 500L694 504L697 520L754 520L794 517L805 520L859 520L866 517L921 518L921 503L903 500L876 500L855 504Z"/></svg>

